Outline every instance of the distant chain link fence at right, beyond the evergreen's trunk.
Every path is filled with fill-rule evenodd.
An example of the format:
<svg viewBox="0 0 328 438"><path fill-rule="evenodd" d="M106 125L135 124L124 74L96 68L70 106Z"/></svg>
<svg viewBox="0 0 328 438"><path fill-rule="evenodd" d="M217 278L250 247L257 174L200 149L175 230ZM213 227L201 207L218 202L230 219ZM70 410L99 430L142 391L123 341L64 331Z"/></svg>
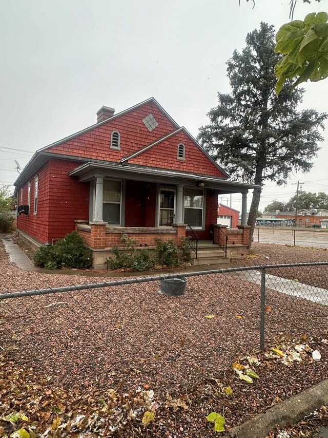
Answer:
<svg viewBox="0 0 328 438"><path fill-rule="evenodd" d="M253 240L258 243L328 248L328 230L258 226L254 230Z"/></svg>

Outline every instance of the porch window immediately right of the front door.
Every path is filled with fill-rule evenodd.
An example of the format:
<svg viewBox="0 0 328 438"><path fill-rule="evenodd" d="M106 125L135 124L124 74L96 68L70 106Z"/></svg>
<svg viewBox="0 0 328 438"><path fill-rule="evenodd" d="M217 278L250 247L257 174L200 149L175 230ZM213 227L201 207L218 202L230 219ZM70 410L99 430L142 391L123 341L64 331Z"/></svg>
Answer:
<svg viewBox="0 0 328 438"><path fill-rule="evenodd" d="M193 228L202 228L204 191L202 188L185 188L183 196L184 219Z"/></svg>

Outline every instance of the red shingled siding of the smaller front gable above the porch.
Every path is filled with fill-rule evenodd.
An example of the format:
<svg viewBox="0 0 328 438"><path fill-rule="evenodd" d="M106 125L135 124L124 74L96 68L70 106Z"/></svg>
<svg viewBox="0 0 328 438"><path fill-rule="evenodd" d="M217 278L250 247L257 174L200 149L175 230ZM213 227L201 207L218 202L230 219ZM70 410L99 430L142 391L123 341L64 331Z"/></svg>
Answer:
<svg viewBox="0 0 328 438"><path fill-rule="evenodd" d="M177 159L177 150L180 143L185 145L185 161ZM185 132L178 132L169 139L129 160L129 163L180 170L180 172L190 172L200 175L225 177L199 147L190 140Z"/></svg>

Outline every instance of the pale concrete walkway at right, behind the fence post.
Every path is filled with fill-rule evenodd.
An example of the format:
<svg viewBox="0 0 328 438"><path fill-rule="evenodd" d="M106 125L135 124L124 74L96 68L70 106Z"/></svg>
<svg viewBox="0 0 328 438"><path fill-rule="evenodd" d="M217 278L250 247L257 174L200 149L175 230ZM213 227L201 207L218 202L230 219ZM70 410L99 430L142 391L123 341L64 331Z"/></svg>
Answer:
<svg viewBox="0 0 328 438"><path fill-rule="evenodd" d="M261 284L260 271L241 271L230 273L251 283ZM328 306L328 291L326 289L310 286L299 281L289 280L288 278L276 277L275 275L265 275L265 287L283 294L293 295L298 298L305 298L310 301L325 304Z"/></svg>

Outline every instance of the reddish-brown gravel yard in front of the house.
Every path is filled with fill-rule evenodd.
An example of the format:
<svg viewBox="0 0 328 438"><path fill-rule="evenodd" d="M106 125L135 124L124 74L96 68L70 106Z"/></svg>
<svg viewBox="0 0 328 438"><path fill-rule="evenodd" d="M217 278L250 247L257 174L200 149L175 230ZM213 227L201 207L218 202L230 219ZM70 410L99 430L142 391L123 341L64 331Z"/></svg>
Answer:
<svg viewBox="0 0 328 438"><path fill-rule="evenodd" d="M262 257L267 263L281 262L281 257L284 262L300 261L299 249L275 248L254 245L259 259L239 260L238 264L263 264ZM315 257L328 260L328 252L319 251L302 249L303 256L306 253L302 261ZM105 281L100 277L24 272L9 262L2 245L0 260L1 292ZM323 277L320 282L327 284L327 270ZM301 275L298 278L304 281ZM5 364L6 376L0 379L0 394L6 411L17 410L17 405L24 412L31 411L28 401L35 399L37 387L43 399L27 415L42 429L51 425L56 415L64 423L68 413L78 409L82 414L92 409L98 414L105 412L103 400L109 406L109 400L113 402L110 390L114 389L117 418L125 418L118 409L120 403L125 412L129 403L139 403L136 412L143 409L126 424L121 419L116 431L108 426L113 421L109 422L108 416L108 436L146 436L147 430L147 436L200 438L215 436L213 424L206 421L211 411L223 413L227 426L232 427L328 377L328 307L267 292L267 349L286 341L295 343L293 339L300 336L309 347L300 363L287 367L279 358L258 352L257 285L230 275L211 274L189 278L186 294L181 297L167 297L158 291L157 282L148 282L0 302L0 361ZM319 362L312 360L314 349L322 354ZM248 353L260 359L256 368L260 379L252 385L231 369L233 361ZM24 387L26 379L29 389L17 404L17 395L5 382L11 382L13 388ZM233 397L222 392L222 385L232 388ZM149 391L154 391L153 397L148 394L151 404L145 395ZM143 397L144 405L138 397ZM58 404L60 413L50 409ZM141 425L146 408L156 412L147 429ZM51 436L73 436L53 433ZM90 432L83 436L105 435Z"/></svg>

